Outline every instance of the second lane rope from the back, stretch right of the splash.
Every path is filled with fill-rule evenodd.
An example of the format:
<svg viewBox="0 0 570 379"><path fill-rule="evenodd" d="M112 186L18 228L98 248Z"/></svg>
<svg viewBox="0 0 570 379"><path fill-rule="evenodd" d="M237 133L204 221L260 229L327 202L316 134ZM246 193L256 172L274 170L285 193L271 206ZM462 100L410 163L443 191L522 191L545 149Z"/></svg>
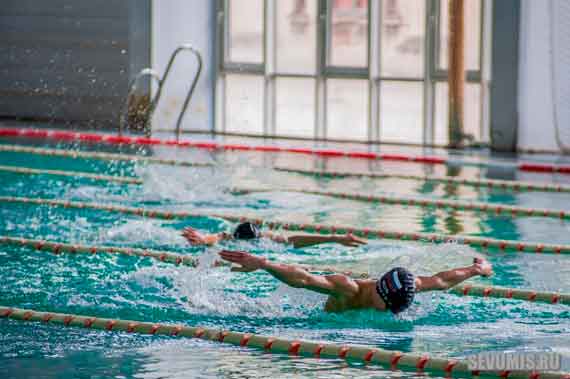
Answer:
<svg viewBox="0 0 570 379"><path fill-rule="evenodd" d="M296 174L313 175L328 178L372 178L372 179L408 179L427 182L438 182L453 185L466 185L473 187L487 187L492 189L512 190L516 192L536 191L536 192L570 192L570 186L562 184L550 184L541 182L528 182L520 180L500 180L500 179L467 179L452 176L437 175L411 175L411 174L384 174L384 173L354 173L348 171L319 171L308 169L291 169L286 167L274 167L276 171L290 172Z"/></svg>

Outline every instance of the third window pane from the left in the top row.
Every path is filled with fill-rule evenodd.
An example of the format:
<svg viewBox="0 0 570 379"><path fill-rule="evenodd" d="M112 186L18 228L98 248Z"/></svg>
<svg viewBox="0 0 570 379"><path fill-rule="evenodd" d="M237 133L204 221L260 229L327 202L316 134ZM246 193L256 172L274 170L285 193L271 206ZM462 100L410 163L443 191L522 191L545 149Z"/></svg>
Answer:
<svg viewBox="0 0 570 379"><path fill-rule="evenodd" d="M333 0L329 13L330 66L368 66L368 0Z"/></svg>

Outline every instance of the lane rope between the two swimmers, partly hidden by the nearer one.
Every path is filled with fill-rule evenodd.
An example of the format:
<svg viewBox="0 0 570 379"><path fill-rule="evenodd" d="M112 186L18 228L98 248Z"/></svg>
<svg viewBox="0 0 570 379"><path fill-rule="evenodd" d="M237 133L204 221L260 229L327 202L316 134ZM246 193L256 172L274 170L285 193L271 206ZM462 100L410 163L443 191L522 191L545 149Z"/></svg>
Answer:
<svg viewBox="0 0 570 379"><path fill-rule="evenodd" d="M55 241L17 238L17 237L8 237L8 236L0 236L0 244L21 246L40 252L49 252L56 255L59 254L117 255L118 254L118 255L137 256L143 258L152 258L160 262L171 263L177 266L184 265L189 267L197 267L199 265L199 259L189 255L177 254L168 251L150 250L150 249L68 244L68 243L55 242ZM311 272L343 274L355 279L370 278L370 275L366 272L359 273L354 271L340 270L334 267L314 266L314 265L297 264L297 263L295 265ZM214 261L213 263L213 267L222 267L222 266L229 267L231 265L221 260ZM464 283L451 288L449 292L460 296L516 299L516 300L529 301L535 303L570 305L570 294L565 294L560 292L535 291L532 289L524 289L524 288L522 289L507 288L507 287L495 287L495 286L474 285L474 284Z"/></svg>

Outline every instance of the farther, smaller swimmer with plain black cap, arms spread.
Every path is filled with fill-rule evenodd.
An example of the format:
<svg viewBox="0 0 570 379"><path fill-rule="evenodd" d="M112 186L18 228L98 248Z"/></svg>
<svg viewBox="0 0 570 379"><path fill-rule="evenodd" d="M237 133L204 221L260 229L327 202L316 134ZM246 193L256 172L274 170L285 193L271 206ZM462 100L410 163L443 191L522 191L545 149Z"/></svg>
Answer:
<svg viewBox="0 0 570 379"><path fill-rule="evenodd" d="M284 236L270 231L261 231L259 227L251 222L239 224L233 233L221 232L215 234L204 234L194 228L184 228L182 236L192 245L215 245L227 240L255 240L268 238L275 242L291 244L295 248L314 246L322 243L339 243L344 246L356 247L366 244L366 241L353 236L346 235L318 235L318 234L297 234Z"/></svg>

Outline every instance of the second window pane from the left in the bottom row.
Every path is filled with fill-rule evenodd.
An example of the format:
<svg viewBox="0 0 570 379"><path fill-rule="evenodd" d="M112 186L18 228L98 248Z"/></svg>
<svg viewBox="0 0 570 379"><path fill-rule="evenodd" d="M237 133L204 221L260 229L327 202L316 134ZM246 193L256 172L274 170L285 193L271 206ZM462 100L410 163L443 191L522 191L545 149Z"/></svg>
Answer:
<svg viewBox="0 0 570 379"><path fill-rule="evenodd" d="M280 136L315 136L315 80L276 79L276 133Z"/></svg>

